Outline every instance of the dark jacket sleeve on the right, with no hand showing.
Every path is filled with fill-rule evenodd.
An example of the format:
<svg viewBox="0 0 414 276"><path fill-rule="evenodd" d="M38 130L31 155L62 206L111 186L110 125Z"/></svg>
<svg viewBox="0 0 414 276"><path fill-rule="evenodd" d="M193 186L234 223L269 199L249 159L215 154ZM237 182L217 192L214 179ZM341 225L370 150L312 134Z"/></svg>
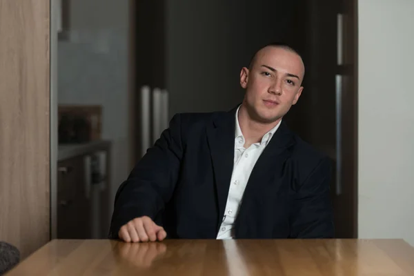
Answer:
<svg viewBox="0 0 414 276"><path fill-rule="evenodd" d="M290 237L333 238L333 208L330 195L331 160L322 159L299 188L290 216Z"/></svg>

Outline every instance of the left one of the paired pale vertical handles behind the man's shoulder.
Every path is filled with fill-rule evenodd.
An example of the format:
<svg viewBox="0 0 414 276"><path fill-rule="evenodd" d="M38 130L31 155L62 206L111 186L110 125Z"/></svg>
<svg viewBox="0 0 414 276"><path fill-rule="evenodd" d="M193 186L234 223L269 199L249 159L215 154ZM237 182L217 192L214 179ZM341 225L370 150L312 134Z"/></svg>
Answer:
<svg viewBox="0 0 414 276"><path fill-rule="evenodd" d="M149 86L141 87L141 156L150 148L150 95Z"/></svg>

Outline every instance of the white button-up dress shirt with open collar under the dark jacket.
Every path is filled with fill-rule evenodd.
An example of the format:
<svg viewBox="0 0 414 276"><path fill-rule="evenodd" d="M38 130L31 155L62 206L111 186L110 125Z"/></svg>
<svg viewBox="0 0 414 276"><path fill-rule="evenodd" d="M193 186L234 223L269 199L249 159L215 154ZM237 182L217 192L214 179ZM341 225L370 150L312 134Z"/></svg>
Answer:
<svg viewBox="0 0 414 276"><path fill-rule="evenodd" d="M230 180L230 189L228 190L228 197L226 203L226 209L224 210L223 221L217 234L217 239L233 239L234 237L234 223L239 213L240 204L242 204L242 197L244 189L250 173L259 159L264 148L268 145L273 134L280 126L277 124L269 132L267 132L260 143L252 144L249 148L244 148L245 139L242 133L242 129L239 125L239 108L236 111L236 129L235 129L235 159L233 166L233 173Z"/></svg>

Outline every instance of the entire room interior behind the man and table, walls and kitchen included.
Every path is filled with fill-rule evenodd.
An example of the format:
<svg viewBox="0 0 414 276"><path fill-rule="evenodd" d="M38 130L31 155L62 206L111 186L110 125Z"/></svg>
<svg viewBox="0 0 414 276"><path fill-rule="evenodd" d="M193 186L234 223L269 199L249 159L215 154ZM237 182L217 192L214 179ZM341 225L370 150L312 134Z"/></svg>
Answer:
<svg viewBox="0 0 414 276"><path fill-rule="evenodd" d="M2 0L0 239L108 234L114 195L177 112L229 110L271 41L306 76L284 118L335 166L337 237L414 245L414 1Z"/></svg>

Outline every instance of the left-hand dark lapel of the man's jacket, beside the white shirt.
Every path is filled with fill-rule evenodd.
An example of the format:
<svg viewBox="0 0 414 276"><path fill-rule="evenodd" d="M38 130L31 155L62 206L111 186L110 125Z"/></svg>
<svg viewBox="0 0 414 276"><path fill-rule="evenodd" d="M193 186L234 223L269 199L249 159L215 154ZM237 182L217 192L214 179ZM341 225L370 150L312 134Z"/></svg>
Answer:
<svg viewBox="0 0 414 276"><path fill-rule="evenodd" d="M215 186L217 190L219 223L224 215L235 154L235 112L237 108L217 115L213 124L207 128L208 146L210 147Z"/></svg>

